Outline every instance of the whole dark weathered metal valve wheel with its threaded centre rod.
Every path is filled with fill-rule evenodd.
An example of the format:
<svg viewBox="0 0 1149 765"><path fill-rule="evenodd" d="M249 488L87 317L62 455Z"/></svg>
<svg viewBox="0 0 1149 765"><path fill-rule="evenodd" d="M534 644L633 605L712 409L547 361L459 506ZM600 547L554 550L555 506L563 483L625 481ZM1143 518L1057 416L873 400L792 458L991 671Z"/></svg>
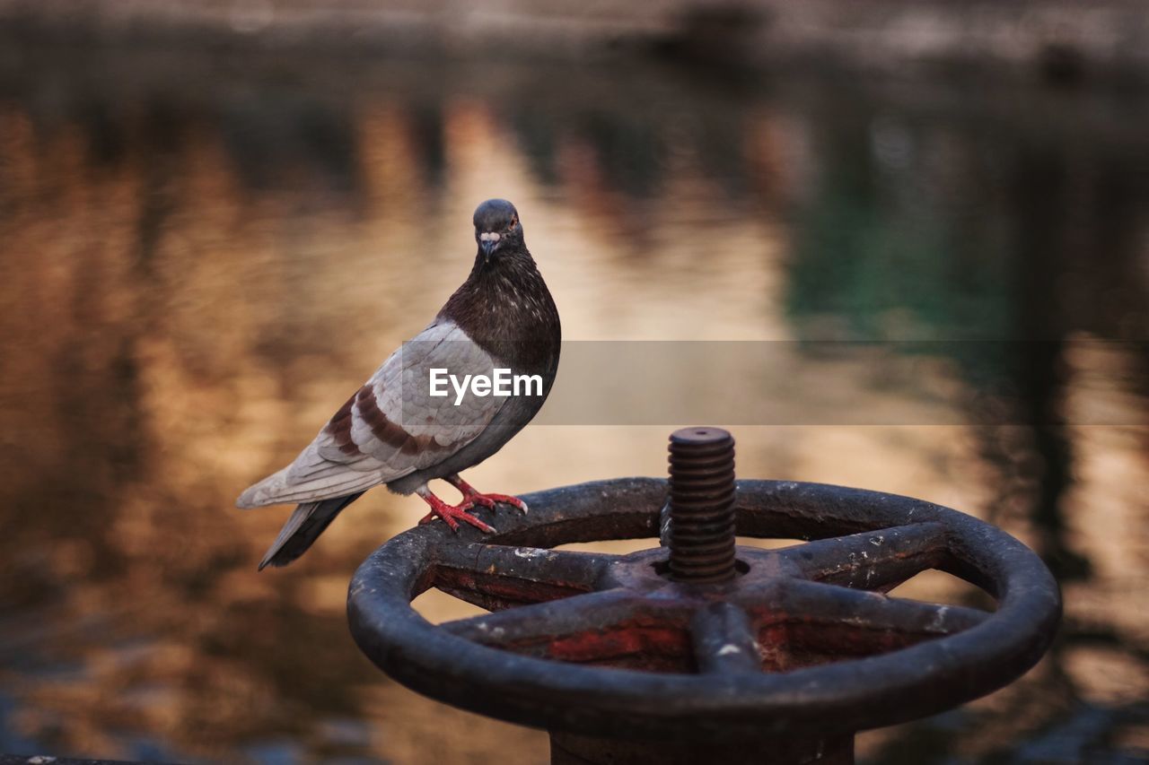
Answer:
<svg viewBox="0 0 1149 765"><path fill-rule="evenodd" d="M669 549L552 549L657 538L668 495ZM1048 570L994 526L878 492L735 485L733 439L717 428L671 436L669 485L630 478L524 499L530 515L501 512L493 535L431 524L385 543L352 581L350 626L400 682L548 728L572 751L579 736L804 736L813 743L794 762L832 759L826 747L849 762L854 732L1019 677L1061 616ZM735 547L735 530L813 541ZM996 610L884 594L926 569L977 585ZM410 606L431 587L493 613L432 625Z"/></svg>

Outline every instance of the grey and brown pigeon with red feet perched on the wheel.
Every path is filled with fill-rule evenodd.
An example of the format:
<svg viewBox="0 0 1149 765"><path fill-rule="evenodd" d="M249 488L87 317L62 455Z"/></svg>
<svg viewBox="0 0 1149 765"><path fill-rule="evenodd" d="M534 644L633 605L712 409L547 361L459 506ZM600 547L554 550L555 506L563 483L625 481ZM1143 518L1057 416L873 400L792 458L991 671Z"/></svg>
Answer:
<svg viewBox="0 0 1149 765"><path fill-rule="evenodd" d="M558 370L558 310L523 241L515 206L487 200L473 222L475 265L434 320L387 357L292 464L237 500L239 508L298 504L261 571L301 556L339 511L380 484L422 497L431 512L421 524L441 518L455 532L460 521L494 531L469 512L476 507L501 503L526 512L522 500L483 494L460 472L499 451L542 407ZM465 376L498 382L500 373L516 380L514 388L502 386L507 395L484 395L492 386L478 384L460 394ZM431 492L427 482L437 478L462 493L458 504Z"/></svg>

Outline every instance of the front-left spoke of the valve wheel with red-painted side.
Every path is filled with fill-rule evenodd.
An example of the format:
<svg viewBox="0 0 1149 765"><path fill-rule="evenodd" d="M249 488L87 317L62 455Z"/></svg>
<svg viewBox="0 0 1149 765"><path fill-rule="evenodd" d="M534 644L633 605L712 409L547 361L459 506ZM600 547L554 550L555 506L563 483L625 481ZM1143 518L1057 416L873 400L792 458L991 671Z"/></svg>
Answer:
<svg viewBox="0 0 1149 765"><path fill-rule="evenodd" d="M680 656L691 611L624 588L574 595L440 625L456 638L564 662L625 663L627 657Z"/></svg>

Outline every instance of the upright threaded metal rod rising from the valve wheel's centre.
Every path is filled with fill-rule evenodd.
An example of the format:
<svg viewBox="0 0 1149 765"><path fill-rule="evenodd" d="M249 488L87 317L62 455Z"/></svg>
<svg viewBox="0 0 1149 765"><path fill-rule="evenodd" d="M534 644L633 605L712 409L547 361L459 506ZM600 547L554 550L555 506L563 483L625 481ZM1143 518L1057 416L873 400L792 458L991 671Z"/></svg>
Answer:
<svg viewBox="0 0 1149 765"><path fill-rule="evenodd" d="M670 434L670 575L734 578L734 438L722 428Z"/></svg>

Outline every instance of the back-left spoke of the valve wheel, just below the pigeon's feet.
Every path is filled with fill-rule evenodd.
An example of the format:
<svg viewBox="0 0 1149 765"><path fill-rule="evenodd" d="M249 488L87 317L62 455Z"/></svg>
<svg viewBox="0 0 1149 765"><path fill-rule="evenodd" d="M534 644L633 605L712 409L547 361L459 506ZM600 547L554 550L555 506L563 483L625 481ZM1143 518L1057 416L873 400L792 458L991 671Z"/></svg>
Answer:
<svg viewBox="0 0 1149 765"><path fill-rule="evenodd" d="M510 544L445 544L429 586L491 611L594 592L619 556Z"/></svg>

